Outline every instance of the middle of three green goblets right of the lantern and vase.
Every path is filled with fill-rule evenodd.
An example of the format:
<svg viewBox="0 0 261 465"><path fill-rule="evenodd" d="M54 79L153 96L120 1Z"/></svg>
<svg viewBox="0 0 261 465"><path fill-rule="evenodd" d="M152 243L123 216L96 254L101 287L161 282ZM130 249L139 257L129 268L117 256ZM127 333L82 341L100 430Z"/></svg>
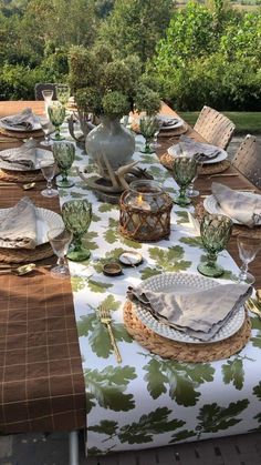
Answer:
<svg viewBox="0 0 261 465"><path fill-rule="evenodd" d="M198 163L194 158L179 156L174 160L173 176L179 185L179 195L174 198L174 202L180 206L187 206L191 203L186 194L188 185L197 175Z"/></svg>

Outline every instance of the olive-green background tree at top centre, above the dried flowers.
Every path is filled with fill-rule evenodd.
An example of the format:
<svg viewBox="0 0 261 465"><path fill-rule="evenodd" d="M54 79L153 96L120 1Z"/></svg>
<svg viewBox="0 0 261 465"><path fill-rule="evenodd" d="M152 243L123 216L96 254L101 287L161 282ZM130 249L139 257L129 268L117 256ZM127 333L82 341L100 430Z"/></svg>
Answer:
<svg viewBox="0 0 261 465"><path fill-rule="evenodd" d="M98 31L100 40L118 57L136 53L145 63L164 37L173 9L173 0L115 0Z"/></svg>

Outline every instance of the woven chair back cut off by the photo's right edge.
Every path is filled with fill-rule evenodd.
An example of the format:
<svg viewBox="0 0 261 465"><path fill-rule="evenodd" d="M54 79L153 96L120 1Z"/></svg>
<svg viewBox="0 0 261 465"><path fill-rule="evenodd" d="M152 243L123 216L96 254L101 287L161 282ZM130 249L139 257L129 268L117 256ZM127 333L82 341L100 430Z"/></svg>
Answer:
<svg viewBox="0 0 261 465"><path fill-rule="evenodd" d="M261 143L253 135L246 137L232 164L257 188L261 189Z"/></svg>

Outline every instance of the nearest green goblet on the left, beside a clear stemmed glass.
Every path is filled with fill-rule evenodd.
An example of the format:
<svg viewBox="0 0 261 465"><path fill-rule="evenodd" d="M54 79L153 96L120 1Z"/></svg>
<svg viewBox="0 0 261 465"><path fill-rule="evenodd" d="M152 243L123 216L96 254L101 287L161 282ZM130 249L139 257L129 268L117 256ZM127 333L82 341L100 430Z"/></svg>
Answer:
<svg viewBox="0 0 261 465"><path fill-rule="evenodd" d="M86 200L70 200L62 206L62 216L66 229L73 233L73 246L69 251L67 257L74 262L87 260L91 252L83 246L82 237L92 221L91 203Z"/></svg>

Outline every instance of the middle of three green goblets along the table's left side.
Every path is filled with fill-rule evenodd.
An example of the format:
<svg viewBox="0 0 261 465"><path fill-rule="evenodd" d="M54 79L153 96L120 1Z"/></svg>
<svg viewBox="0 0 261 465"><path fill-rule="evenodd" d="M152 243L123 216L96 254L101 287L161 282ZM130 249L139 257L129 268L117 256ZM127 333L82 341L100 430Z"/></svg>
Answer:
<svg viewBox="0 0 261 465"><path fill-rule="evenodd" d="M62 179L56 180L59 188L72 188L74 182L67 179L67 172L75 159L75 146L72 142L55 142L53 144L53 156L61 171Z"/></svg>

